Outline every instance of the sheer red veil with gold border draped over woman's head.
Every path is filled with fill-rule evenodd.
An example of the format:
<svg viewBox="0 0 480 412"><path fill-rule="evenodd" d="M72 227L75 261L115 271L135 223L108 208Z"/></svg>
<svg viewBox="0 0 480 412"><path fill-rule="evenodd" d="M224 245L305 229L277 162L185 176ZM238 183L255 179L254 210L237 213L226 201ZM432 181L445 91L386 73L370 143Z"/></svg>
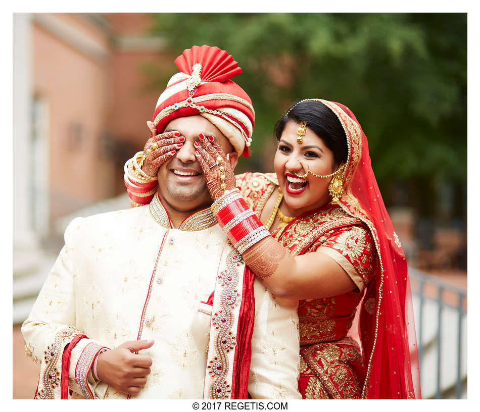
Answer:
<svg viewBox="0 0 480 412"><path fill-rule="evenodd" d="M407 262L373 174L368 143L346 106L322 99L347 136L347 167L342 175L341 207L369 228L378 270L367 285L359 317L365 365L362 398L420 398L420 378ZM303 100L302 100L303 101Z"/></svg>

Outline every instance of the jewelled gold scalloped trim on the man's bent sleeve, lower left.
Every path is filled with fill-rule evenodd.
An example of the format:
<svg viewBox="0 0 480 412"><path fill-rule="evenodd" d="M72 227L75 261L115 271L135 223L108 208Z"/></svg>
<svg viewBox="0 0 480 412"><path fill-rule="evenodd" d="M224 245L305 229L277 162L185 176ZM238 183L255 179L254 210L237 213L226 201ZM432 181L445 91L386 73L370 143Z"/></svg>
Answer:
<svg viewBox="0 0 480 412"><path fill-rule="evenodd" d="M80 331L71 327L60 330L55 334L55 341L52 345L47 346L44 351L45 369L40 376L43 388L35 394L35 399L55 399L54 389L60 385L61 371L58 370L57 364L65 346L63 343L67 338L72 337L75 332L80 333Z"/></svg>

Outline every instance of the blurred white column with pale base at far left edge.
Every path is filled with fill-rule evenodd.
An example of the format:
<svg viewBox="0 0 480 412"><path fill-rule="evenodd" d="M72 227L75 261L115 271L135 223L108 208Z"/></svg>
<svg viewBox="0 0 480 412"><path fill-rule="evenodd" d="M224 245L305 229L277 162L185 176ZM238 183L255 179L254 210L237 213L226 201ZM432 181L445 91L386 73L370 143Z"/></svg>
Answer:
<svg viewBox="0 0 480 412"><path fill-rule="evenodd" d="M32 219L32 27L13 14L13 322L26 319L43 283L44 255Z"/></svg>

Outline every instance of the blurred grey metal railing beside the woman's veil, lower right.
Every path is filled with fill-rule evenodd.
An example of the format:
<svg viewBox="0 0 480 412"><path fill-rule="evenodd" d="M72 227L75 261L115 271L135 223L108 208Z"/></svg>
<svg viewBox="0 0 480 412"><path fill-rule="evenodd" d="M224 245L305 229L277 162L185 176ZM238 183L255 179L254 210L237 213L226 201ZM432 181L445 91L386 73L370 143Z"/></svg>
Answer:
<svg viewBox="0 0 480 412"><path fill-rule="evenodd" d="M466 397L466 290L409 269L424 398ZM453 372L453 373L452 373Z"/></svg>

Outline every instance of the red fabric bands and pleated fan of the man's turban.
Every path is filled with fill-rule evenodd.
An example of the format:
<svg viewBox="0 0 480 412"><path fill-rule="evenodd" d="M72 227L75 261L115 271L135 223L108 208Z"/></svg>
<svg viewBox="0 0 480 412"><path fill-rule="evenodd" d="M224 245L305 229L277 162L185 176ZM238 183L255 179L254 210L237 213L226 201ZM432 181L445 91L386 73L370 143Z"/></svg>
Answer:
<svg viewBox="0 0 480 412"><path fill-rule="evenodd" d="M238 63L235 62L233 58L228 55L227 52L225 52L225 50L220 50L218 47L211 47L204 44L201 47L193 46L190 49L185 49L182 55L175 59L175 65L178 67L180 72L188 76L192 74L192 66L196 63L200 63L202 65L202 70L200 73L202 84L199 84L194 89L194 97L204 96L207 94L225 93L242 98L246 100L250 106L252 105L252 100L242 89L242 87L230 80L232 77L241 74L242 69L238 67ZM168 87L172 87L176 83L172 83ZM155 118L163 109L173 106L175 103L184 101L188 97L188 90L185 88L161 101L155 109L153 122L155 122ZM252 123L252 127L255 125L254 112L248 106L245 106L241 102L233 99L229 99L228 97L212 98L200 102L199 105L210 110L221 108L233 108L239 110L249 118L250 122ZM162 133L165 129L165 126L173 119L185 116L195 116L198 114L199 110L191 107L174 110L168 116L159 121L157 124L157 131L158 133ZM241 121L231 116L227 117L235 122L236 127L241 129L246 136L251 137L249 136L247 127ZM249 155L250 149L245 146L243 156Z"/></svg>

